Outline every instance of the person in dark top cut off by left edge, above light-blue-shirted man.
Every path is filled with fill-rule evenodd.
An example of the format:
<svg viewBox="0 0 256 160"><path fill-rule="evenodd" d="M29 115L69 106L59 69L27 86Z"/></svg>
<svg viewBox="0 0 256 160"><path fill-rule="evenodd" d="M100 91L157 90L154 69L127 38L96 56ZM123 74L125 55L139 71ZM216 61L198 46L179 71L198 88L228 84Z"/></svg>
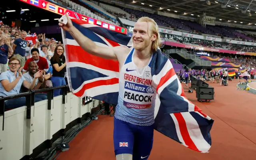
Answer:
<svg viewBox="0 0 256 160"><path fill-rule="evenodd" d="M10 39L6 35L0 35L0 74L7 71L8 52L12 51Z"/></svg>

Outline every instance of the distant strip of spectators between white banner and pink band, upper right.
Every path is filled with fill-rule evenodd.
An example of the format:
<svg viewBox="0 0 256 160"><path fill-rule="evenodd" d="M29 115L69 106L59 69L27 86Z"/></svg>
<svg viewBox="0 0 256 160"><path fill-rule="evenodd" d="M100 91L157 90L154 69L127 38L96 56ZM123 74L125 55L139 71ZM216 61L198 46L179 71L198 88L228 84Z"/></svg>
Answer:
<svg viewBox="0 0 256 160"><path fill-rule="evenodd" d="M189 38L184 36L176 36L176 35L162 34L162 33L161 33L161 38L164 38L166 40L171 40L171 41L177 41L180 43L198 45L202 47L228 49L228 50L234 50L234 51L256 52L256 46L250 46L250 45L239 45L239 44L226 43L226 42L200 40L196 38Z"/></svg>

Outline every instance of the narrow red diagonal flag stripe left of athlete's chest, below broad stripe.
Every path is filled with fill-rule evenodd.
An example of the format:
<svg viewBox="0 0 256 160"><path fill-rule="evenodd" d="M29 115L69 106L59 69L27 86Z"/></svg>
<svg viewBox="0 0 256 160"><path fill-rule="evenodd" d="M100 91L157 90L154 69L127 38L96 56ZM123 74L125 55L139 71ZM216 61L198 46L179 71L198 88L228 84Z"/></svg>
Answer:
<svg viewBox="0 0 256 160"><path fill-rule="evenodd" d="M101 85L114 85L114 84L117 84L117 83L119 83L118 78L112 78L112 79L107 79L107 80L99 80L99 81L87 83L82 87L82 89L80 89L80 91L78 91L77 93L74 93L74 95L76 95L78 97L82 97L82 95L84 94L84 91L86 91L87 89L91 89L93 87L98 87L98 86L101 86Z"/></svg>

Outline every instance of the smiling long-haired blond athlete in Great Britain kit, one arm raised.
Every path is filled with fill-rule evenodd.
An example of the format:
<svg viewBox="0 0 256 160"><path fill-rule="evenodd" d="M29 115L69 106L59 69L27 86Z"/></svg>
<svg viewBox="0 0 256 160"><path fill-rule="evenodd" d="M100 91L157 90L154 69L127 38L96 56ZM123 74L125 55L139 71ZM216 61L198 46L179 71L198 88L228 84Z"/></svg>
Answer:
<svg viewBox="0 0 256 160"><path fill-rule="evenodd" d="M59 26L88 53L117 59L120 68L119 96L114 116L116 160L147 160L153 145L156 90L152 87L151 61L161 45L156 22L140 18L134 25L133 47L101 47L68 22Z"/></svg>

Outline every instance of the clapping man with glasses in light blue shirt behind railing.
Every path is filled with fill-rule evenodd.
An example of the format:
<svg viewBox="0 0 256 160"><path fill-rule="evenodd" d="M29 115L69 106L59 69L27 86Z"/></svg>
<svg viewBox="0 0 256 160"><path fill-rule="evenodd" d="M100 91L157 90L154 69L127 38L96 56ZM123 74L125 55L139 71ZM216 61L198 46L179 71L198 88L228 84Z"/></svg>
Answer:
<svg viewBox="0 0 256 160"><path fill-rule="evenodd" d="M9 60L8 66L10 67L10 70L0 75L0 96L19 94L22 85L27 89L33 89L36 84L36 80L42 75L42 71L36 72L32 82L29 83L21 73L23 67L20 67L19 59L12 57ZM35 98L35 102L42 100L43 99ZM26 97L9 99L5 102L5 105L7 109L14 109L25 106Z"/></svg>

